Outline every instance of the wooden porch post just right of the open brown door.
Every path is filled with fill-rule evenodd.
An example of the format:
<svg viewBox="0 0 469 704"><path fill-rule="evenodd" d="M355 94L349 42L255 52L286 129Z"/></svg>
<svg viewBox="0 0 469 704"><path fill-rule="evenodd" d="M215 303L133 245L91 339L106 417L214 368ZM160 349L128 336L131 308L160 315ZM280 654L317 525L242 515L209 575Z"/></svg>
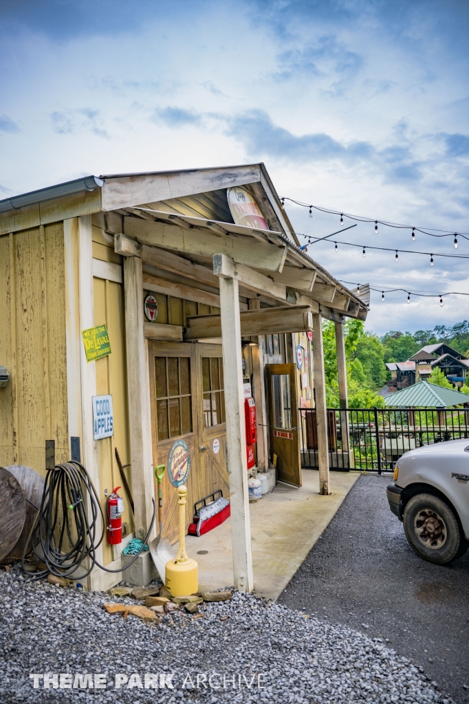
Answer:
<svg viewBox="0 0 469 704"><path fill-rule="evenodd" d="M319 493L327 495L330 494L330 480L329 450L327 447L323 327L321 316L318 313L313 313L313 363L316 422L318 427Z"/></svg>

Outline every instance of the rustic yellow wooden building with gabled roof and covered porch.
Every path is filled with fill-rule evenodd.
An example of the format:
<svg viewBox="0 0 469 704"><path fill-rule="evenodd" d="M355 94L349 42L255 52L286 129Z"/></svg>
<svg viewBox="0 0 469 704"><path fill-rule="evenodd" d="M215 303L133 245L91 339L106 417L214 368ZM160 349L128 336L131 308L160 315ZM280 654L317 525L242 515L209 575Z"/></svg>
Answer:
<svg viewBox="0 0 469 704"><path fill-rule="evenodd" d="M0 201L0 365L9 375L0 464L44 474L44 443L54 439L57 461L80 456L104 505L122 483L118 448L135 501L133 516L124 495L129 539L149 528L154 467L186 448L187 521L214 488L230 496L235 585L250 591L244 384L256 401L257 466L275 453L280 479L293 484L298 408L315 396L328 494L321 320L336 324L344 406L343 322L367 310L300 251L263 164L89 176ZM107 436L96 425L104 396ZM177 477L168 474L163 533L175 539ZM117 569L120 548L104 544L98 558ZM89 586L120 579L96 572Z"/></svg>

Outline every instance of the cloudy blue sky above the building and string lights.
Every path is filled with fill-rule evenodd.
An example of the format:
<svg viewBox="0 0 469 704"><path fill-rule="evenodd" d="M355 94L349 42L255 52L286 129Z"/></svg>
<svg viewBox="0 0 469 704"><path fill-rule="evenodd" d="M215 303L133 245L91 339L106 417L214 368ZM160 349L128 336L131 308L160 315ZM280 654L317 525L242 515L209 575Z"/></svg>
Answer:
<svg viewBox="0 0 469 704"><path fill-rule="evenodd" d="M3 0L0 197L88 174L264 161L280 196L469 233L465 0ZM339 216L286 201L297 232ZM345 222L344 227L351 224ZM438 234L434 232L434 234ZM441 233L439 233L441 234ZM469 257L361 223L333 239ZM302 240L303 241L303 240ZM469 259L333 244L344 281L469 293ZM469 318L469 296L372 294L367 327Z"/></svg>

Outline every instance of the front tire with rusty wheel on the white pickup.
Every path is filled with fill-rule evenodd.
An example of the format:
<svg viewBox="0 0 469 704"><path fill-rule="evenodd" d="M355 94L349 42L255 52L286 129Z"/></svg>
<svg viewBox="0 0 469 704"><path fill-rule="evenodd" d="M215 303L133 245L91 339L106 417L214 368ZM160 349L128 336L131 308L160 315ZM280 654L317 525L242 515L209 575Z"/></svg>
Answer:
<svg viewBox="0 0 469 704"><path fill-rule="evenodd" d="M437 565L449 565L468 549L454 511L432 494L417 494L408 501L404 531L413 550Z"/></svg>

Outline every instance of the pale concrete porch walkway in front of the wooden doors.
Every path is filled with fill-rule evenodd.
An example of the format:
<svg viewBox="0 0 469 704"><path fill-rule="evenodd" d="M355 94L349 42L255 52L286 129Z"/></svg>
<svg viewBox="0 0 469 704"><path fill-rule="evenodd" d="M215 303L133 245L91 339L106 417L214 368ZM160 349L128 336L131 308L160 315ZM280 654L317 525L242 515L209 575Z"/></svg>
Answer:
<svg viewBox="0 0 469 704"><path fill-rule="evenodd" d="M277 599L359 476L331 472L332 494L320 496L318 471L303 470L301 489L277 484L271 494L249 505L257 594ZM233 584L230 519L201 538L187 536L186 548L199 562L201 591Z"/></svg>

